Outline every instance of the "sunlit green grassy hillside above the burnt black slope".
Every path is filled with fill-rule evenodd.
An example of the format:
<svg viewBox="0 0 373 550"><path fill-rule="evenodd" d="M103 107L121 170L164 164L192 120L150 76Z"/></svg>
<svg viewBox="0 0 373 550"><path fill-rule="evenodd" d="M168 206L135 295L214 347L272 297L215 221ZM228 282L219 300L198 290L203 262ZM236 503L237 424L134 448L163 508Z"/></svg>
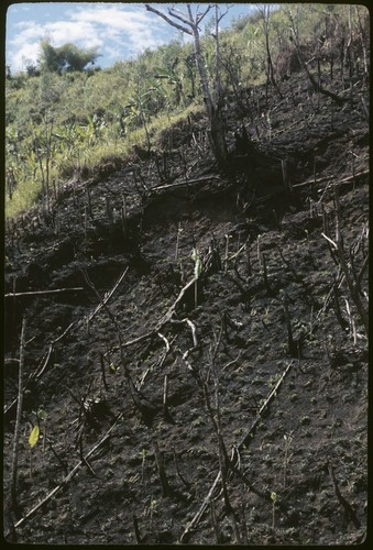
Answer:
<svg viewBox="0 0 373 550"><path fill-rule="evenodd" d="M273 81L299 69L289 41L292 22L312 70L315 59L330 66L349 63L349 70L356 59L364 62L364 8L285 4L267 20L259 9L221 32L227 94L233 91L239 101L248 87L270 81L265 31ZM215 40L209 26L202 48L212 79ZM177 41L105 70L8 75L6 94L8 217L41 198L48 208L73 175L95 170L108 157L117 158L116 165L125 163L134 144L151 148L161 130L202 106L193 46Z"/></svg>

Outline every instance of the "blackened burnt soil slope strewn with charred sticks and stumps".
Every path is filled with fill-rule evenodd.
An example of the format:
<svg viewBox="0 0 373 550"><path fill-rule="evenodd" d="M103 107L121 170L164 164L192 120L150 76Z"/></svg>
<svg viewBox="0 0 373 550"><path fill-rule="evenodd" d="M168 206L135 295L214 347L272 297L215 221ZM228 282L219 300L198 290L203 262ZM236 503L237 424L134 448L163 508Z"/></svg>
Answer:
<svg viewBox="0 0 373 550"><path fill-rule="evenodd" d="M196 116L7 223L8 541L364 540L367 338L333 243L338 187L367 309L369 90L325 86L341 105L300 75L228 98L227 174Z"/></svg>

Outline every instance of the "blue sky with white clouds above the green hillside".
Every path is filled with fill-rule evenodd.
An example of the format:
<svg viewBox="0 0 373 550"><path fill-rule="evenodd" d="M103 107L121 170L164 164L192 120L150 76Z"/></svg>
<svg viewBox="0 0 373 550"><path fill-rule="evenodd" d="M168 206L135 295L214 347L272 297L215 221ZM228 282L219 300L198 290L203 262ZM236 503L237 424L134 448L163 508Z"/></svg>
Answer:
<svg viewBox="0 0 373 550"><path fill-rule="evenodd" d="M180 11L186 9L184 3L152 4L163 11L171 6ZM207 4L199 4L200 11L204 6ZM253 9L250 3L221 4L221 8L226 6L230 9L221 21L222 26L227 26L232 18L245 15ZM208 14L204 22L209 18ZM7 12L6 62L12 73L23 70L28 63L36 62L40 41L48 37L55 47L67 42L83 48L97 46L98 53L101 54L97 64L105 68L118 61L134 57L146 47L157 47L177 36L179 32L176 29L146 11L143 3L14 3ZM184 36L186 38L186 35Z"/></svg>

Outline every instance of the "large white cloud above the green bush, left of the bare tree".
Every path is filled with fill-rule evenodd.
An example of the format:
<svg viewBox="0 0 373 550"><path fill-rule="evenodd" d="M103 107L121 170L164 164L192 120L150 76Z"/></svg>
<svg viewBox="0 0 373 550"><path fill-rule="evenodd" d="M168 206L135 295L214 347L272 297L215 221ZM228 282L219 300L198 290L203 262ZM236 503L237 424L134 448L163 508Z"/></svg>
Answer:
<svg viewBox="0 0 373 550"><path fill-rule="evenodd" d="M47 8L48 4L43 6ZM169 26L146 12L143 4L70 6L72 9L54 20L37 22L33 12L32 20L13 25L12 32L7 33L7 63L13 72L23 68L23 58L36 62L39 44L44 37L56 47L66 42L84 48L97 46L98 53L110 61L132 57L146 47L156 47L169 40Z"/></svg>

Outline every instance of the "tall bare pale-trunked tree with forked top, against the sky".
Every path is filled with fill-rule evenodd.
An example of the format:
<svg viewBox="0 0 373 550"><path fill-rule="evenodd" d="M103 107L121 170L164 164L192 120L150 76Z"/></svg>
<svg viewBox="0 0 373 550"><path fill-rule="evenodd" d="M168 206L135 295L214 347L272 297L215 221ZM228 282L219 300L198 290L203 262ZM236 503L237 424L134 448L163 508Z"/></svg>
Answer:
<svg viewBox="0 0 373 550"><path fill-rule="evenodd" d="M194 38L195 45L195 61L198 69L200 85L204 95L204 102L206 106L206 111L210 123L210 143L212 153L217 160L218 166L222 169L227 167L227 144L226 144L226 125L221 116L221 84L220 84L220 52L219 52L219 22L223 16L220 12L218 4L215 6L215 34L213 38L216 41L216 70L215 70L215 82L212 86L212 91L208 81L208 76L206 72L206 59L204 56L199 25L207 13L211 10L212 6L208 6L204 12L193 13L191 6L186 4L187 13L179 11L176 8L168 8L168 15L153 8L151 4L145 4L147 11L151 11L164 19L168 24L175 29L182 31L183 33L189 34ZM171 19L172 18L172 19ZM180 24L182 23L182 24Z"/></svg>

